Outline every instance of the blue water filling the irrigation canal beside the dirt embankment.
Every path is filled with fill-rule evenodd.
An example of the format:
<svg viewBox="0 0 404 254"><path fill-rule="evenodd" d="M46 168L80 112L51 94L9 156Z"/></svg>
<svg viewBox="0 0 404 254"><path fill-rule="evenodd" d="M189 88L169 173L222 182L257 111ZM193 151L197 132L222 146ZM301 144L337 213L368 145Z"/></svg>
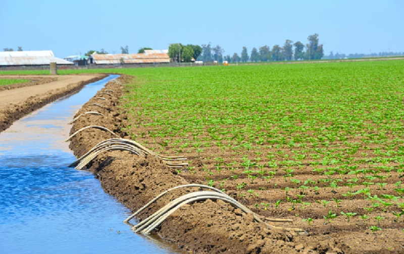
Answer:
<svg viewBox="0 0 404 254"><path fill-rule="evenodd" d="M179 253L138 235L122 221L129 210L93 174L67 166L74 113L110 80L86 85L0 133L1 253Z"/></svg>

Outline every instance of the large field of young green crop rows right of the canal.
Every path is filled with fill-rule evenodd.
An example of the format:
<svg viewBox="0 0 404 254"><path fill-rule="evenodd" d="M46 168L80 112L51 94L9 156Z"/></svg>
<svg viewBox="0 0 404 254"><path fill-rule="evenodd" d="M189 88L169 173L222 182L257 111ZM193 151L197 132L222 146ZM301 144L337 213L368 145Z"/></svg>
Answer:
<svg viewBox="0 0 404 254"><path fill-rule="evenodd" d="M404 234L404 61L150 68L123 98L132 139L176 173L313 235ZM285 224L286 225L286 224Z"/></svg>

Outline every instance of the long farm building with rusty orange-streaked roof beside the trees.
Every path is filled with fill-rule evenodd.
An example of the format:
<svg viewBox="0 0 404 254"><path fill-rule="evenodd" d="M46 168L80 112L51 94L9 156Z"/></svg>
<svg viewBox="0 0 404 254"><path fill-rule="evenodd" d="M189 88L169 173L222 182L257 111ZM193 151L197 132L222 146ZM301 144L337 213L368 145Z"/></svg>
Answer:
<svg viewBox="0 0 404 254"><path fill-rule="evenodd" d="M168 50L144 50L140 54L92 54L90 63L96 65L122 65L132 63L169 63Z"/></svg>

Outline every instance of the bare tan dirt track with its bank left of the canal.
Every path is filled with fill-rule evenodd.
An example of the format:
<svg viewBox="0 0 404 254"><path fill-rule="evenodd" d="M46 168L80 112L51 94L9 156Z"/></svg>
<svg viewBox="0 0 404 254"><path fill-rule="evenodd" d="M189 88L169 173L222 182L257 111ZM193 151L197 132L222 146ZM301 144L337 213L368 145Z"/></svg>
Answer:
<svg viewBox="0 0 404 254"><path fill-rule="evenodd" d="M0 132L34 110L105 77L104 74L67 75L58 78L45 77L45 79L23 75L7 76L7 78L34 79L35 81L15 84L10 86L10 89L0 91Z"/></svg>

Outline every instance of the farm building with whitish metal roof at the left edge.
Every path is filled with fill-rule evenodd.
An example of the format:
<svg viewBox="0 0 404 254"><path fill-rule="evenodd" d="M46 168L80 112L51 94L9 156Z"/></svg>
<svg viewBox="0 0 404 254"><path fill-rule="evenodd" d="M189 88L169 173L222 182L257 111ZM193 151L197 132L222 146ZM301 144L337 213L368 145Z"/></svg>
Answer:
<svg viewBox="0 0 404 254"><path fill-rule="evenodd" d="M48 66L51 62L57 65L73 65L73 62L55 57L52 50L41 51L4 51L0 52L0 66Z"/></svg>

